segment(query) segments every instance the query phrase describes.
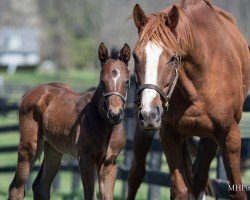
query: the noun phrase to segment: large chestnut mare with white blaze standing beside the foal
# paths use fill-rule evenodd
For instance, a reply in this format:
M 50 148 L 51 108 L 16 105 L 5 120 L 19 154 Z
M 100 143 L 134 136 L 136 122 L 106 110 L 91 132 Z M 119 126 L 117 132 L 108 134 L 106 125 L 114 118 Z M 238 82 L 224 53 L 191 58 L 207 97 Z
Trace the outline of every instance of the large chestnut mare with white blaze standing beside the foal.
M 203 197 L 211 161 L 221 148 L 228 180 L 241 185 L 239 121 L 249 88 L 250 56 L 233 18 L 209 0 L 183 0 L 146 16 L 137 4 L 134 50 L 141 126 L 134 138 L 128 199 L 145 173 L 145 157 L 160 129 L 171 173 L 171 199 Z M 146 136 L 147 135 L 147 136 Z M 194 165 L 188 138 L 201 137 Z M 232 199 L 246 199 L 231 191 Z

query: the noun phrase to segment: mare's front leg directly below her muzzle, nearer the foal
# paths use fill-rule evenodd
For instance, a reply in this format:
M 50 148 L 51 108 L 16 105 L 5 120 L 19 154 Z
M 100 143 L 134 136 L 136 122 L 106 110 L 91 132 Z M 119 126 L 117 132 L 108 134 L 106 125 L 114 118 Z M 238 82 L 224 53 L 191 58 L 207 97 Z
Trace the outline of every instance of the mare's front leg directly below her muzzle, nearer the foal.
M 184 182 L 182 143 L 183 138 L 172 127 L 165 126 L 160 133 L 160 141 L 171 173 L 171 199 L 188 199 L 188 188 Z

